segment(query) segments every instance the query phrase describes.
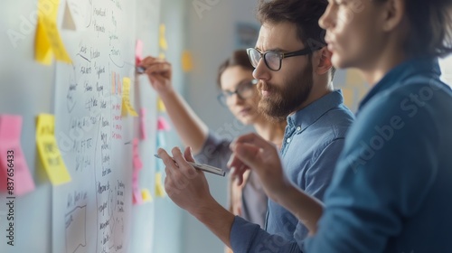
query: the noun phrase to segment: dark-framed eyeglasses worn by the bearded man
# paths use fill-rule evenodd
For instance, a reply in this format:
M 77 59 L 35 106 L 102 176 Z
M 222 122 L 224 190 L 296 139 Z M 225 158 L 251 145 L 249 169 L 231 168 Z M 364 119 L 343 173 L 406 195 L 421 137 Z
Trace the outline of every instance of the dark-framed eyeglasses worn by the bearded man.
M 265 65 L 267 65 L 269 70 L 278 71 L 281 70 L 281 61 L 284 58 L 298 56 L 298 55 L 306 55 L 311 52 L 310 47 L 306 49 L 302 49 L 296 52 L 278 52 L 278 51 L 268 51 L 268 52 L 260 52 L 255 48 L 247 49 L 248 57 L 250 58 L 251 65 L 254 68 L 258 67 L 260 59 L 264 58 Z

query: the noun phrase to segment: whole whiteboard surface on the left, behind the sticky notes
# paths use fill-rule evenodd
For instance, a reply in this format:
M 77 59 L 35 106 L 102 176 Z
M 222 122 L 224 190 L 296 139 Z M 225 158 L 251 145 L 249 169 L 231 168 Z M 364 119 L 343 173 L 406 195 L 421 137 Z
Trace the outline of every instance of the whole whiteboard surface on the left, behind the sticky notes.
M 75 1 L 83 24 L 75 30 L 67 25 L 68 3 L 61 0 L 58 26 L 72 64 L 52 66 L 33 59 L 37 0 L 5 0 L 0 9 L 0 30 L 23 34 L 18 41 L 0 34 L 0 114 L 24 118 L 21 145 L 36 185 L 17 197 L 15 245 L 1 236 L 0 252 L 150 252 L 154 204 L 134 206 L 131 193 L 131 141 L 139 137 L 139 119 L 120 117 L 120 84 L 128 77 L 134 108 L 146 108 L 148 135 L 139 150 L 154 154 L 155 93 L 145 77 L 135 76 L 134 62 L 137 39 L 144 55 L 158 53 L 160 1 Z M 71 183 L 52 186 L 38 166 L 35 118 L 41 113 L 55 115 Z M 154 193 L 155 159 L 141 158 L 139 184 Z

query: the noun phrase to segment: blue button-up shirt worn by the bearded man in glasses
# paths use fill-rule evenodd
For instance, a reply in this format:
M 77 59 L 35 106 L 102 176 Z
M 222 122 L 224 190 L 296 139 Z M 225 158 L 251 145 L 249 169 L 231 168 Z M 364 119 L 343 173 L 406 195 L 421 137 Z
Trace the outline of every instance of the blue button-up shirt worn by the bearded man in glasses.
M 287 117 L 281 155 L 290 181 L 322 200 L 352 122 L 353 114 L 344 107 L 339 90 Z M 272 248 L 298 248 L 297 242 L 301 243 L 306 235 L 306 227 L 294 215 L 269 201 L 267 231 L 236 217 L 231 230 L 231 247 L 236 253 L 277 252 L 271 251 Z

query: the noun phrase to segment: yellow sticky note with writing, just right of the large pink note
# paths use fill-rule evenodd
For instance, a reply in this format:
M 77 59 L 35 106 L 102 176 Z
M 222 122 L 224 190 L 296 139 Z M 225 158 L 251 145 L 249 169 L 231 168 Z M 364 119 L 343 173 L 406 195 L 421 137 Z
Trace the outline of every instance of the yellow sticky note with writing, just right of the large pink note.
M 39 115 L 36 123 L 36 145 L 45 172 L 53 185 L 71 182 L 71 175 L 62 160 L 60 149 L 54 135 L 55 117 Z

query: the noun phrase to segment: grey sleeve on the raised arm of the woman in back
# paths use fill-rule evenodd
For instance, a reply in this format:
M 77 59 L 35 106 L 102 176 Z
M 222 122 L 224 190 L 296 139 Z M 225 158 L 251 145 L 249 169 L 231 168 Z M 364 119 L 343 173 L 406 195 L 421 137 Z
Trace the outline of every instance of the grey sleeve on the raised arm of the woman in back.
M 209 164 L 229 172 L 226 164 L 231 157 L 230 144 L 230 140 L 221 139 L 209 132 L 201 151 L 194 155 L 194 159 L 200 164 Z

